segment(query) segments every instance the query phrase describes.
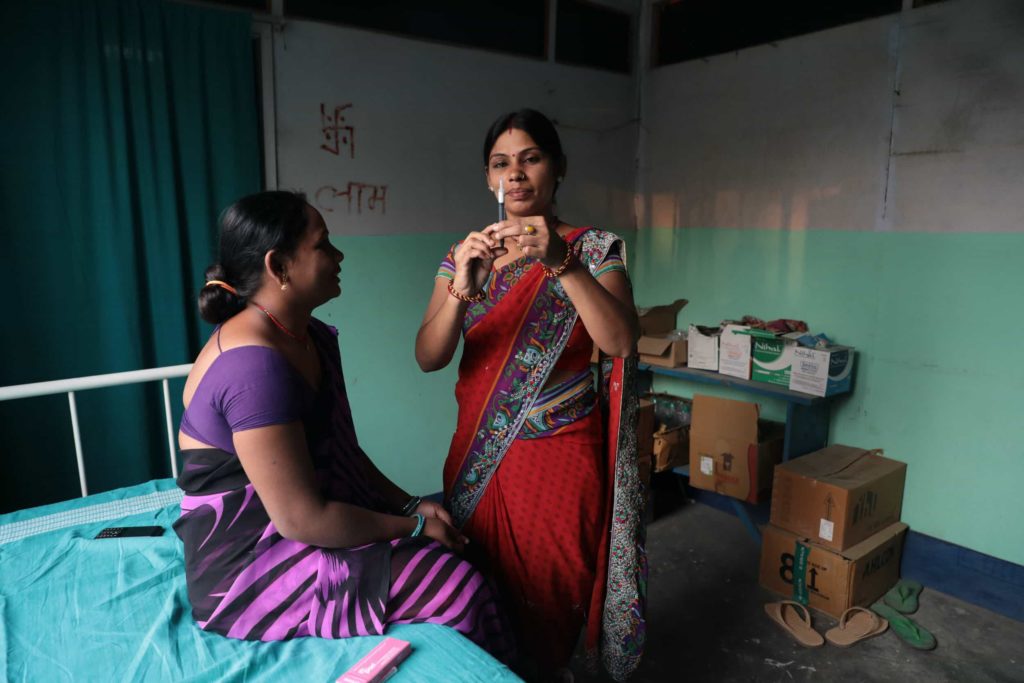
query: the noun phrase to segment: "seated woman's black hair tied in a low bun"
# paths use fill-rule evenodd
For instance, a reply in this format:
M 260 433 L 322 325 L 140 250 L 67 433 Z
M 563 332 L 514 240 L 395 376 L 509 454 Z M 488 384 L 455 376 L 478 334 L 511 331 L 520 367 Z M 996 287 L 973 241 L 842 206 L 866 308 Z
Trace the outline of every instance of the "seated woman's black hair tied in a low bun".
M 257 193 L 224 209 L 220 215 L 220 256 L 206 269 L 206 281 L 219 280 L 234 288 L 206 285 L 199 293 L 200 315 L 219 325 L 243 308 L 263 278 L 268 251 L 289 257 L 307 227 L 306 198 L 301 193 Z

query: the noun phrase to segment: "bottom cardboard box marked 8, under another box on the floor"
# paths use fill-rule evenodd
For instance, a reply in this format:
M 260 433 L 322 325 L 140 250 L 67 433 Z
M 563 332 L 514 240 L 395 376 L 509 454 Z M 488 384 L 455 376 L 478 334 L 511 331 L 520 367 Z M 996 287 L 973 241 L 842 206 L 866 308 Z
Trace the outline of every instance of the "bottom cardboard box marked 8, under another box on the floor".
M 854 605 L 871 604 L 896 583 L 906 529 L 896 522 L 835 552 L 768 524 L 761 539 L 760 583 L 839 618 Z

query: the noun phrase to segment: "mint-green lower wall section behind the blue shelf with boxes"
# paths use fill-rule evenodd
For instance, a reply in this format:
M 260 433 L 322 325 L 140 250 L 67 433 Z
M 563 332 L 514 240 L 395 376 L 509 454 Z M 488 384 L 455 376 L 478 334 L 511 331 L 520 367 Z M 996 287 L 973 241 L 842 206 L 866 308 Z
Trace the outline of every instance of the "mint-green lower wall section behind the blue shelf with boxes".
M 855 346 L 830 440 L 907 463 L 911 528 L 1024 564 L 1022 254 L 1020 233 L 666 228 L 637 233 L 631 270 L 638 304 L 690 300 L 680 326 L 797 317 Z

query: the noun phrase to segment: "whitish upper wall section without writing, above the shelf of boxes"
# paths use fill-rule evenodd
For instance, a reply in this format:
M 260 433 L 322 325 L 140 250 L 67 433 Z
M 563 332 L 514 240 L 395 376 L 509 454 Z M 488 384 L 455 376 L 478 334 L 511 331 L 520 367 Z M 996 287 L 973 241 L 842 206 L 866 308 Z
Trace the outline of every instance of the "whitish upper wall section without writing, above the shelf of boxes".
M 640 225 L 1021 229 L 1020 0 L 665 67 L 643 91 Z

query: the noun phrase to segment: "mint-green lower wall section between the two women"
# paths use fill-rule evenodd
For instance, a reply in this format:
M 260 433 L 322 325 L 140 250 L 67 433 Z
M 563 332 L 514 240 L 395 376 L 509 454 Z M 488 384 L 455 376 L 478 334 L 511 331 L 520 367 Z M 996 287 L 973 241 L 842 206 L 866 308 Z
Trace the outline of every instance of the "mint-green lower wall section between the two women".
M 359 443 L 413 494 L 441 489 L 441 465 L 455 431 L 461 349 L 447 368 L 426 374 L 416 365 L 414 347 L 437 265 L 463 237 L 335 236 L 345 254 L 341 297 L 315 312 L 338 328 Z

